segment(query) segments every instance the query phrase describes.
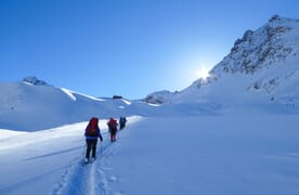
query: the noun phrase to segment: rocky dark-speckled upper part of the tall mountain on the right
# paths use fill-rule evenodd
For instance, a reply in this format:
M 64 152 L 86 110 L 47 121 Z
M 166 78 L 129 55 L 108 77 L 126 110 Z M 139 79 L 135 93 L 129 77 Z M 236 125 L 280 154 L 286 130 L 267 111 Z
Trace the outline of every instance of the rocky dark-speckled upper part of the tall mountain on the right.
M 269 23 L 257 30 L 246 30 L 234 42 L 231 53 L 213 69 L 212 74 L 253 74 L 258 69 L 277 65 L 290 55 L 297 55 L 296 36 L 299 21 L 274 15 Z

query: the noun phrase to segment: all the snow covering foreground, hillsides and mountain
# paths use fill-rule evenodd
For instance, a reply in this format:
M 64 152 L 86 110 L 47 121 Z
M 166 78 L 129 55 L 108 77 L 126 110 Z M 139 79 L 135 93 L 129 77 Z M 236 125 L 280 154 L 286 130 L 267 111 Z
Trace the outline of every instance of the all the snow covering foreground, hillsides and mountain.
M 274 41 L 286 50 L 244 73 L 237 47 L 266 51 L 268 26 L 287 29 Z M 273 17 L 205 82 L 144 101 L 93 98 L 36 77 L 0 83 L 0 194 L 299 194 L 298 29 L 298 21 Z M 104 141 L 84 165 L 93 116 Z M 110 143 L 106 122 L 120 116 L 127 127 Z

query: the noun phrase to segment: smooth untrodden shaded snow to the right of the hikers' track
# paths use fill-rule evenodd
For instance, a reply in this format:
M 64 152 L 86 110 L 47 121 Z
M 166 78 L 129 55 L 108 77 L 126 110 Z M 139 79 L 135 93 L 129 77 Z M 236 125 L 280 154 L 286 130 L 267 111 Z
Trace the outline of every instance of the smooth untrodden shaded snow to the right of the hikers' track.
M 113 192 L 299 192 L 297 116 L 148 118 L 136 126 L 110 159 Z

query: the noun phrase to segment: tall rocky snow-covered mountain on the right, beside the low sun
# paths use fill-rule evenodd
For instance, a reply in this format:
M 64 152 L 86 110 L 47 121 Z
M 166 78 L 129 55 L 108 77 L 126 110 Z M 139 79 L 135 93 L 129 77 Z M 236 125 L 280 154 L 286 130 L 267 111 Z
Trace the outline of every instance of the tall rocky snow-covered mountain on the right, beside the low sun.
M 231 53 L 179 93 L 154 93 L 156 103 L 246 101 L 299 103 L 299 20 L 274 15 L 257 30 L 246 30 Z M 151 99 L 148 99 L 151 98 Z

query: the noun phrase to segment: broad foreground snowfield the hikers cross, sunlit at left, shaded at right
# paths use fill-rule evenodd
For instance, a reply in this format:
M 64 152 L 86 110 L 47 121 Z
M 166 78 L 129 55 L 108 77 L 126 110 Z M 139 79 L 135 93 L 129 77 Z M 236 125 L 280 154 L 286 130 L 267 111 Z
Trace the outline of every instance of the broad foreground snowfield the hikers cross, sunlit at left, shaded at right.
M 0 194 L 299 194 L 299 117 L 264 112 L 128 118 L 82 165 L 86 122 L 1 130 Z

